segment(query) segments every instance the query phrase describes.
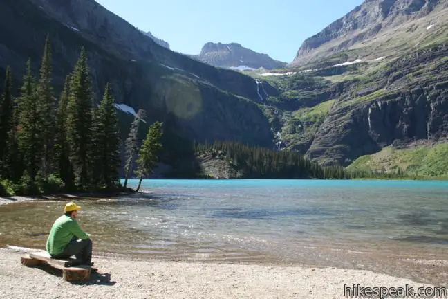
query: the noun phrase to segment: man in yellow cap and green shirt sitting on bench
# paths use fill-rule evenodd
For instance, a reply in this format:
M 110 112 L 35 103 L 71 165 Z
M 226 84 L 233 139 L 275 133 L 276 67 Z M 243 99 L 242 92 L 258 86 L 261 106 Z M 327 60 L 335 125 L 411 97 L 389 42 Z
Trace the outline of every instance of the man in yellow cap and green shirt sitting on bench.
M 91 235 L 85 233 L 77 221 L 81 210 L 76 203 L 67 203 L 65 214 L 57 218 L 46 242 L 46 251 L 55 259 L 68 259 L 75 255 L 80 264 L 93 266 Z

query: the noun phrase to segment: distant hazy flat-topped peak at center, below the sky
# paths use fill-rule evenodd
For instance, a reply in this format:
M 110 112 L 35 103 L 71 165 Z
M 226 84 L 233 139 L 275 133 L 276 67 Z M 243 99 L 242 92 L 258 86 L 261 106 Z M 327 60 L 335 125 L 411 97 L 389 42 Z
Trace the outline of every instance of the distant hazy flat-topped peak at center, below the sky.
M 199 55 L 192 55 L 197 60 L 212 66 L 239 69 L 278 69 L 286 65 L 284 62 L 273 60 L 267 54 L 256 53 L 241 44 L 205 44 Z

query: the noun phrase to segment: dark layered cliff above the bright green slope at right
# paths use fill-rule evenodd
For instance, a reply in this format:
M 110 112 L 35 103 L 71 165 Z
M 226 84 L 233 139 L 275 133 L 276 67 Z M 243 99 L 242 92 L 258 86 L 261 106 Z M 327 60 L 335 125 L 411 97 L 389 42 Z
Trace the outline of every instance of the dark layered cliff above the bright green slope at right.
M 307 151 L 348 165 L 382 147 L 448 138 L 448 45 L 422 49 L 347 82 Z

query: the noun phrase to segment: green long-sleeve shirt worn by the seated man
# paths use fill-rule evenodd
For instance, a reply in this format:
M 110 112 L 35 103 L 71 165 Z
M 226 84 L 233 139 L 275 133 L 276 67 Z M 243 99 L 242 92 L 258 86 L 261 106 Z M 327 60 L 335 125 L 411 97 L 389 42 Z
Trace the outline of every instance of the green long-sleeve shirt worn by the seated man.
M 50 255 L 57 255 L 64 251 L 68 242 L 77 237 L 78 239 L 88 239 L 89 234 L 84 233 L 84 230 L 80 227 L 80 224 L 76 219 L 62 215 L 57 218 L 53 227 L 50 230 L 46 243 L 46 251 Z

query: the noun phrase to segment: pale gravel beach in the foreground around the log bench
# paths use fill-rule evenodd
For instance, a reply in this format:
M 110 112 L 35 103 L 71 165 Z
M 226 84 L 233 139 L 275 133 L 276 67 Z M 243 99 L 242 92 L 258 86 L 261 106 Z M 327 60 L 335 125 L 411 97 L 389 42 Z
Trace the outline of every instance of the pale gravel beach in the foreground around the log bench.
M 97 256 L 99 273 L 71 283 L 49 266 L 22 266 L 21 254 L 0 248 L 0 298 L 344 298 L 344 284 L 429 287 L 369 271 Z

